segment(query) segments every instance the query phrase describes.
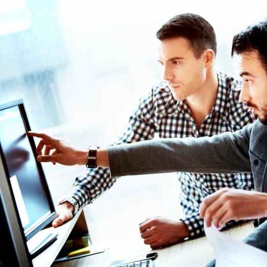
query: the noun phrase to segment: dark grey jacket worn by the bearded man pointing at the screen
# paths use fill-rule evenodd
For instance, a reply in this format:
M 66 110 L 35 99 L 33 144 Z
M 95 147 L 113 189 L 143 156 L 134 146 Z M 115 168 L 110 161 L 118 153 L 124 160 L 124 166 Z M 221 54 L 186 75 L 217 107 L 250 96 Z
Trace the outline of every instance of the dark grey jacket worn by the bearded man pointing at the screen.
M 185 171 L 253 173 L 255 189 L 267 192 L 267 126 L 258 120 L 213 137 L 167 138 L 107 149 L 113 177 Z

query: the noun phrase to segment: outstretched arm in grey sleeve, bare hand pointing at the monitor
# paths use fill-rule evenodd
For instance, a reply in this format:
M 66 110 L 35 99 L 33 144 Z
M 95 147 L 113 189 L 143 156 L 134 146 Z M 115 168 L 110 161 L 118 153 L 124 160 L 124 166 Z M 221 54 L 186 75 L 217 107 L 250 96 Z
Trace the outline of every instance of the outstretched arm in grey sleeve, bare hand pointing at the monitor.
M 100 148 L 97 150 L 97 165 L 110 168 L 113 177 L 177 171 L 249 172 L 252 127 L 253 124 L 234 133 L 225 132 L 213 137 L 167 138 Z M 87 163 L 87 150 L 44 133 L 29 132 L 29 135 L 41 138 L 36 148 L 38 161 L 64 165 Z

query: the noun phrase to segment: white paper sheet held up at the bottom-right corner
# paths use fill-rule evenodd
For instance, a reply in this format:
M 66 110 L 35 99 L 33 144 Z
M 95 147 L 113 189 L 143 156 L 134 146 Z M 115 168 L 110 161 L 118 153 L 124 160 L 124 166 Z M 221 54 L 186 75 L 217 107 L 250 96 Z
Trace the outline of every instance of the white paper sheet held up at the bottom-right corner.
M 215 253 L 216 267 L 267 266 L 267 252 L 229 238 L 218 231 L 214 225 L 206 227 L 205 222 L 204 230 Z

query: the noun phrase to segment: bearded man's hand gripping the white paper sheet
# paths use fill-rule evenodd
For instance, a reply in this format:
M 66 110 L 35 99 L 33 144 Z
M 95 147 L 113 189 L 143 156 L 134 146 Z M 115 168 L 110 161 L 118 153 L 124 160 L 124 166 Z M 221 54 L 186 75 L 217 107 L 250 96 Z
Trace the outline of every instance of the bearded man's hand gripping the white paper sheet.
M 231 220 L 256 219 L 267 216 L 267 194 L 234 188 L 222 188 L 204 198 L 200 218 L 207 227 L 211 222 L 222 228 Z

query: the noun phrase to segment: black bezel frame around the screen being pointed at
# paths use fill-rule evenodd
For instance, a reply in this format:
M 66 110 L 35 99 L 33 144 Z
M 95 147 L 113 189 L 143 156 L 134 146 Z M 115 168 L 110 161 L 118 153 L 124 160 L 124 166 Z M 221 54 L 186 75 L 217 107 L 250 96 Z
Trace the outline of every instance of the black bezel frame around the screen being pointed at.
M 22 120 L 24 122 L 24 126 L 25 126 L 26 131 L 30 131 L 31 127 L 30 127 L 30 124 L 29 124 L 29 121 L 28 121 L 28 117 L 27 117 L 26 110 L 25 110 L 25 107 L 24 107 L 24 102 L 23 102 L 22 99 L 18 99 L 18 100 L 12 101 L 12 102 L 0 104 L 0 110 L 11 108 L 11 107 L 15 107 L 15 106 L 17 106 L 18 109 L 21 112 Z M 39 231 L 41 231 L 45 226 L 47 226 L 53 219 L 56 218 L 56 211 L 55 211 L 54 203 L 53 203 L 53 200 L 52 200 L 52 197 L 51 197 L 51 194 L 50 194 L 48 183 L 47 183 L 47 180 L 46 180 L 46 177 L 45 177 L 45 174 L 44 174 L 43 167 L 42 167 L 41 163 L 36 160 L 37 152 L 36 152 L 36 146 L 35 146 L 35 143 L 34 143 L 34 139 L 33 139 L 33 137 L 30 137 L 29 135 L 27 135 L 27 137 L 28 137 L 29 143 L 30 143 L 32 151 L 33 151 L 33 155 L 34 155 L 34 158 L 35 158 L 35 162 L 36 162 L 40 177 L 42 178 L 41 182 L 42 182 L 42 184 L 44 186 L 45 194 L 47 196 L 49 207 L 50 207 L 50 211 L 51 211 L 51 214 L 48 215 L 46 218 L 44 218 L 39 224 L 37 224 L 36 226 L 32 227 L 28 232 L 24 232 L 26 240 L 29 240 L 31 237 L 33 237 L 35 234 L 37 234 Z M 4 167 L 6 180 L 8 181 L 9 188 L 11 188 L 11 183 L 9 181 L 10 175 L 9 175 L 9 171 L 8 171 L 8 168 L 7 168 L 6 160 L 5 160 L 5 157 L 4 157 L 4 152 L 3 152 L 3 149 L 2 149 L 2 145 L 1 145 L 1 139 L 0 139 L 0 156 L 1 156 L 3 167 Z M 12 192 L 12 190 L 11 190 L 11 192 Z M 12 193 L 12 198 L 13 198 L 13 201 L 14 201 L 13 193 Z

